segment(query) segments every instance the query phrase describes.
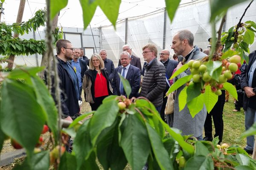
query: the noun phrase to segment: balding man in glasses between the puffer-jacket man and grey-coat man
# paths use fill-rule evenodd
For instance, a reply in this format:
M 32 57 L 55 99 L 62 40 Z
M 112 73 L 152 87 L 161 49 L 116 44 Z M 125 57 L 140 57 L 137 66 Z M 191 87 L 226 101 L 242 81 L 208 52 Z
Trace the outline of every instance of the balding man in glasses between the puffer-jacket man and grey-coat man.
M 178 62 L 169 58 L 170 57 L 169 50 L 164 49 L 161 51 L 161 53 L 159 55 L 160 55 L 160 62 L 162 62 L 164 67 L 166 68 L 166 89 L 163 92 L 163 105 L 162 105 L 162 108 L 160 111 L 160 116 L 163 119 L 163 121 L 165 121 L 164 110 L 166 108 L 166 102 L 167 102 L 167 97 L 165 97 L 165 96 L 171 86 L 169 83 L 169 79 L 172 76 L 173 70 L 177 67 Z

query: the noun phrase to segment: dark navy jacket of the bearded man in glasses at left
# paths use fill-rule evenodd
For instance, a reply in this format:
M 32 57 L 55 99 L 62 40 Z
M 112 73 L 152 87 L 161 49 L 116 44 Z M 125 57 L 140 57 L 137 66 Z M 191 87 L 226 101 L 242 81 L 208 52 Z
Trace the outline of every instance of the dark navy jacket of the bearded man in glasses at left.
M 72 119 L 75 119 L 78 116 L 78 113 L 80 111 L 78 99 L 76 97 L 76 90 L 72 81 L 72 78 L 67 71 L 66 68 L 64 68 L 64 64 L 69 64 L 68 62 L 64 62 L 61 59 L 57 57 L 58 60 L 58 77 L 60 79 L 60 89 L 61 89 L 61 110 L 62 110 L 62 117 L 65 118 L 67 116 L 70 116 Z M 45 72 L 45 77 L 47 80 L 47 72 Z M 78 79 L 77 79 L 77 84 Z M 79 89 L 79 87 L 78 87 Z M 51 91 L 52 97 L 56 102 L 55 97 L 55 86 L 54 86 L 54 78 L 52 77 L 52 91 Z

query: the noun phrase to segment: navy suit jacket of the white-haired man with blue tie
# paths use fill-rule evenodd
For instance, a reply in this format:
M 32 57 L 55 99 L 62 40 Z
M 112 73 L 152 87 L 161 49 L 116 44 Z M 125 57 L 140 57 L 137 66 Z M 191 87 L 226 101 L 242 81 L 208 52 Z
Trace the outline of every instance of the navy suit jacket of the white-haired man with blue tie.
M 121 74 L 121 71 L 122 71 L 122 65 L 115 68 L 113 82 L 112 82 L 113 94 L 118 96 L 121 95 L 120 94 L 120 77 L 118 75 L 118 73 Z M 125 79 L 127 79 L 131 85 L 131 94 L 129 98 L 131 99 L 132 97 L 138 97 L 139 89 L 140 89 L 140 69 L 133 65 L 130 65 Z

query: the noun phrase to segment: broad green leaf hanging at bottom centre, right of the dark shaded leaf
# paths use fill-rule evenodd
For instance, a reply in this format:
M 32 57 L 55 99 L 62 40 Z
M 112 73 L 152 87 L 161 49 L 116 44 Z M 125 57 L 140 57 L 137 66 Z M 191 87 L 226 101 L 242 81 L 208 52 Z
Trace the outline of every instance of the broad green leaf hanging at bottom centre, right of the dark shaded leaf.
M 127 125 L 122 134 L 121 147 L 133 170 L 141 170 L 150 152 L 150 142 L 145 125 L 137 114 L 128 115 Z

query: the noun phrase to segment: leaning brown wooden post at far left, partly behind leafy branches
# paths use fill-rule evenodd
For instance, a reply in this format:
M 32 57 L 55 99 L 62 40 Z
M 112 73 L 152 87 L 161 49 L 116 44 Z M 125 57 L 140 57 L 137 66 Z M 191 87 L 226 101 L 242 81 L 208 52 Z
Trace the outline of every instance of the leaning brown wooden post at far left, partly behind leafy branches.
M 24 8 L 25 8 L 25 3 L 26 3 L 26 0 L 20 0 L 20 7 L 19 7 L 18 14 L 17 14 L 16 23 L 21 23 L 22 22 L 22 17 L 23 17 L 23 11 L 24 11 Z M 17 37 L 19 37 L 19 34 L 14 34 L 13 37 L 17 38 Z M 10 57 L 9 57 L 9 62 L 8 62 L 7 67 L 10 70 L 13 67 L 14 58 L 15 58 L 15 55 L 13 55 L 13 54 L 11 54 Z

